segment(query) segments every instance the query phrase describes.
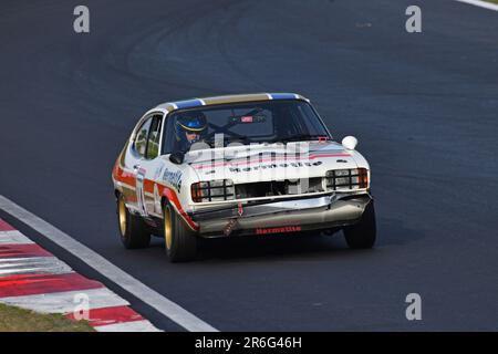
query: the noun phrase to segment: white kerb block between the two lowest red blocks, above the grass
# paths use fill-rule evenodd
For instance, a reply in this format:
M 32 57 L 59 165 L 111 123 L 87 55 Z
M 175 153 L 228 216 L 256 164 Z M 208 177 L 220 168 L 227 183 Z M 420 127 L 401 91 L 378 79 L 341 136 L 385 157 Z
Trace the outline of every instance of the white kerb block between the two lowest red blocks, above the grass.
M 89 310 L 129 305 L 126 300 L 116 295 L 107 288 L 0 298 L 0 302 L 42 313 L 72 313 L 76 306 L 74 300 L 77 294 L 89 296 Z

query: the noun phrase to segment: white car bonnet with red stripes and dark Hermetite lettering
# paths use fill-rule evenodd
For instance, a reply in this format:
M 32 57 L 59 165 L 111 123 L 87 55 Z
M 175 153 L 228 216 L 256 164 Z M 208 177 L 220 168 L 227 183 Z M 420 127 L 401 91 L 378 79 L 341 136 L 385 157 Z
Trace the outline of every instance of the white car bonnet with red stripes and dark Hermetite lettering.
M 354 150 L 335 142 L 258 144 L 189 152 L 187 163 L 200 181 L 235 184 L 323 177 L 330 169 L 356 168 Z

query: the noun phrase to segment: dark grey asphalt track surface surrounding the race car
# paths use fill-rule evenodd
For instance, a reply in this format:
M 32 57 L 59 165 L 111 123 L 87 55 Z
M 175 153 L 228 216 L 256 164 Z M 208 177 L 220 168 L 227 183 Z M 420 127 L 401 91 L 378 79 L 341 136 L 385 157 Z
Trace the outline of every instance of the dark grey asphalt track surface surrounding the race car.
M 76 34 L 76 4 L 0 3 L 1 195 L 221 331 L 498 330 L 498 12 L 450 0 L 85 1 L 91 33 Z M 405 31 L 409 4 L 422 33 Z M 232 239 L 170 264 L 160 239 L 122 248 L 111 169 L 141 114 L 246 92 L 301 93 L 334 137 L 359 138 L 374 250 L 351 251 L 341 235 Z M 412 292 L 422 321 L 405 317 Z

